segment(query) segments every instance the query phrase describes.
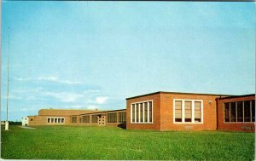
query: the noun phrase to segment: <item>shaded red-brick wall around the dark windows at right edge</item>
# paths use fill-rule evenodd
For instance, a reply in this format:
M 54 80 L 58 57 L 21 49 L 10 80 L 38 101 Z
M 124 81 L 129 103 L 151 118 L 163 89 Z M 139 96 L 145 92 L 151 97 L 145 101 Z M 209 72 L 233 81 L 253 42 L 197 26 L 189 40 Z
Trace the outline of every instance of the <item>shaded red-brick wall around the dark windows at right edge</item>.
M 233 101 L 255 101 L 255 96 L 235 97 L 230 99 L 218 100 L 218 129 L 231 131 L 254 132 L 254 123 L 224 123 L 224 102 Z M 255 108 L 255 106 L 253 106 Z M 247 129 L 250 128 L 250 129 Z

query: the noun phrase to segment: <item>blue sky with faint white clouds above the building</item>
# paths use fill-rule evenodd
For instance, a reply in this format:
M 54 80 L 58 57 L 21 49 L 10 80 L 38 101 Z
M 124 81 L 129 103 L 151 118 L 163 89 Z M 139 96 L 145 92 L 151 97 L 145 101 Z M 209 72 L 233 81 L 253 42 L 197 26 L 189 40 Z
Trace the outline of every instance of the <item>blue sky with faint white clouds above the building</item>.
M 156 91 L 255 93 L 254 3 L 2 3 L 2 120 Z

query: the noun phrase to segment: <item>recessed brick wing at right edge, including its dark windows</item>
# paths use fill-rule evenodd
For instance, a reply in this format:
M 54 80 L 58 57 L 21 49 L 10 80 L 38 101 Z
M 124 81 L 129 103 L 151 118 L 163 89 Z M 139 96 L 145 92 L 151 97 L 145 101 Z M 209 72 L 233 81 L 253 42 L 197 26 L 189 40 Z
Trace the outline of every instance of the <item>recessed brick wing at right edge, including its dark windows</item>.
M 234 131 L 255 130 L 255 95 L 218 98 L 218 129 Z

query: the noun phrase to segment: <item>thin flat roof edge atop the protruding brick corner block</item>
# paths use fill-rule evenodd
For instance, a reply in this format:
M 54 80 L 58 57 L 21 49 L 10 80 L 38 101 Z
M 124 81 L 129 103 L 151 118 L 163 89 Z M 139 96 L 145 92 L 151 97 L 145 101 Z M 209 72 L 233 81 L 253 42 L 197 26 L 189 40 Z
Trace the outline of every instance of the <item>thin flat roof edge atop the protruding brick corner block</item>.
M 216 95 L 216 96 L 233 96 L 233 95 L 219 95 L 219 94 L 199 94 L 199 93 L 184 93 L 184 92 L 165 92 L 165 91 L 158 91 L 146 95 L 137 95 L 133 97 L 126 98 L 126 100 L 147 96 L 147 95 L 156 95 L 156 94 L 176 94 L 176 95 Z

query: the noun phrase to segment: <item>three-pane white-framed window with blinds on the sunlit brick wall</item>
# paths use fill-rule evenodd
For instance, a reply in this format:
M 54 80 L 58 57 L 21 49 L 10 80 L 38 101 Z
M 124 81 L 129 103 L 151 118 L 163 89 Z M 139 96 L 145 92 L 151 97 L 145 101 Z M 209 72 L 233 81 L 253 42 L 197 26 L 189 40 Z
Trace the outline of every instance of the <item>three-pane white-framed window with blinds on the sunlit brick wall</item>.
M 174 100 L 174 123 L 202 123 L 202 101 Z

